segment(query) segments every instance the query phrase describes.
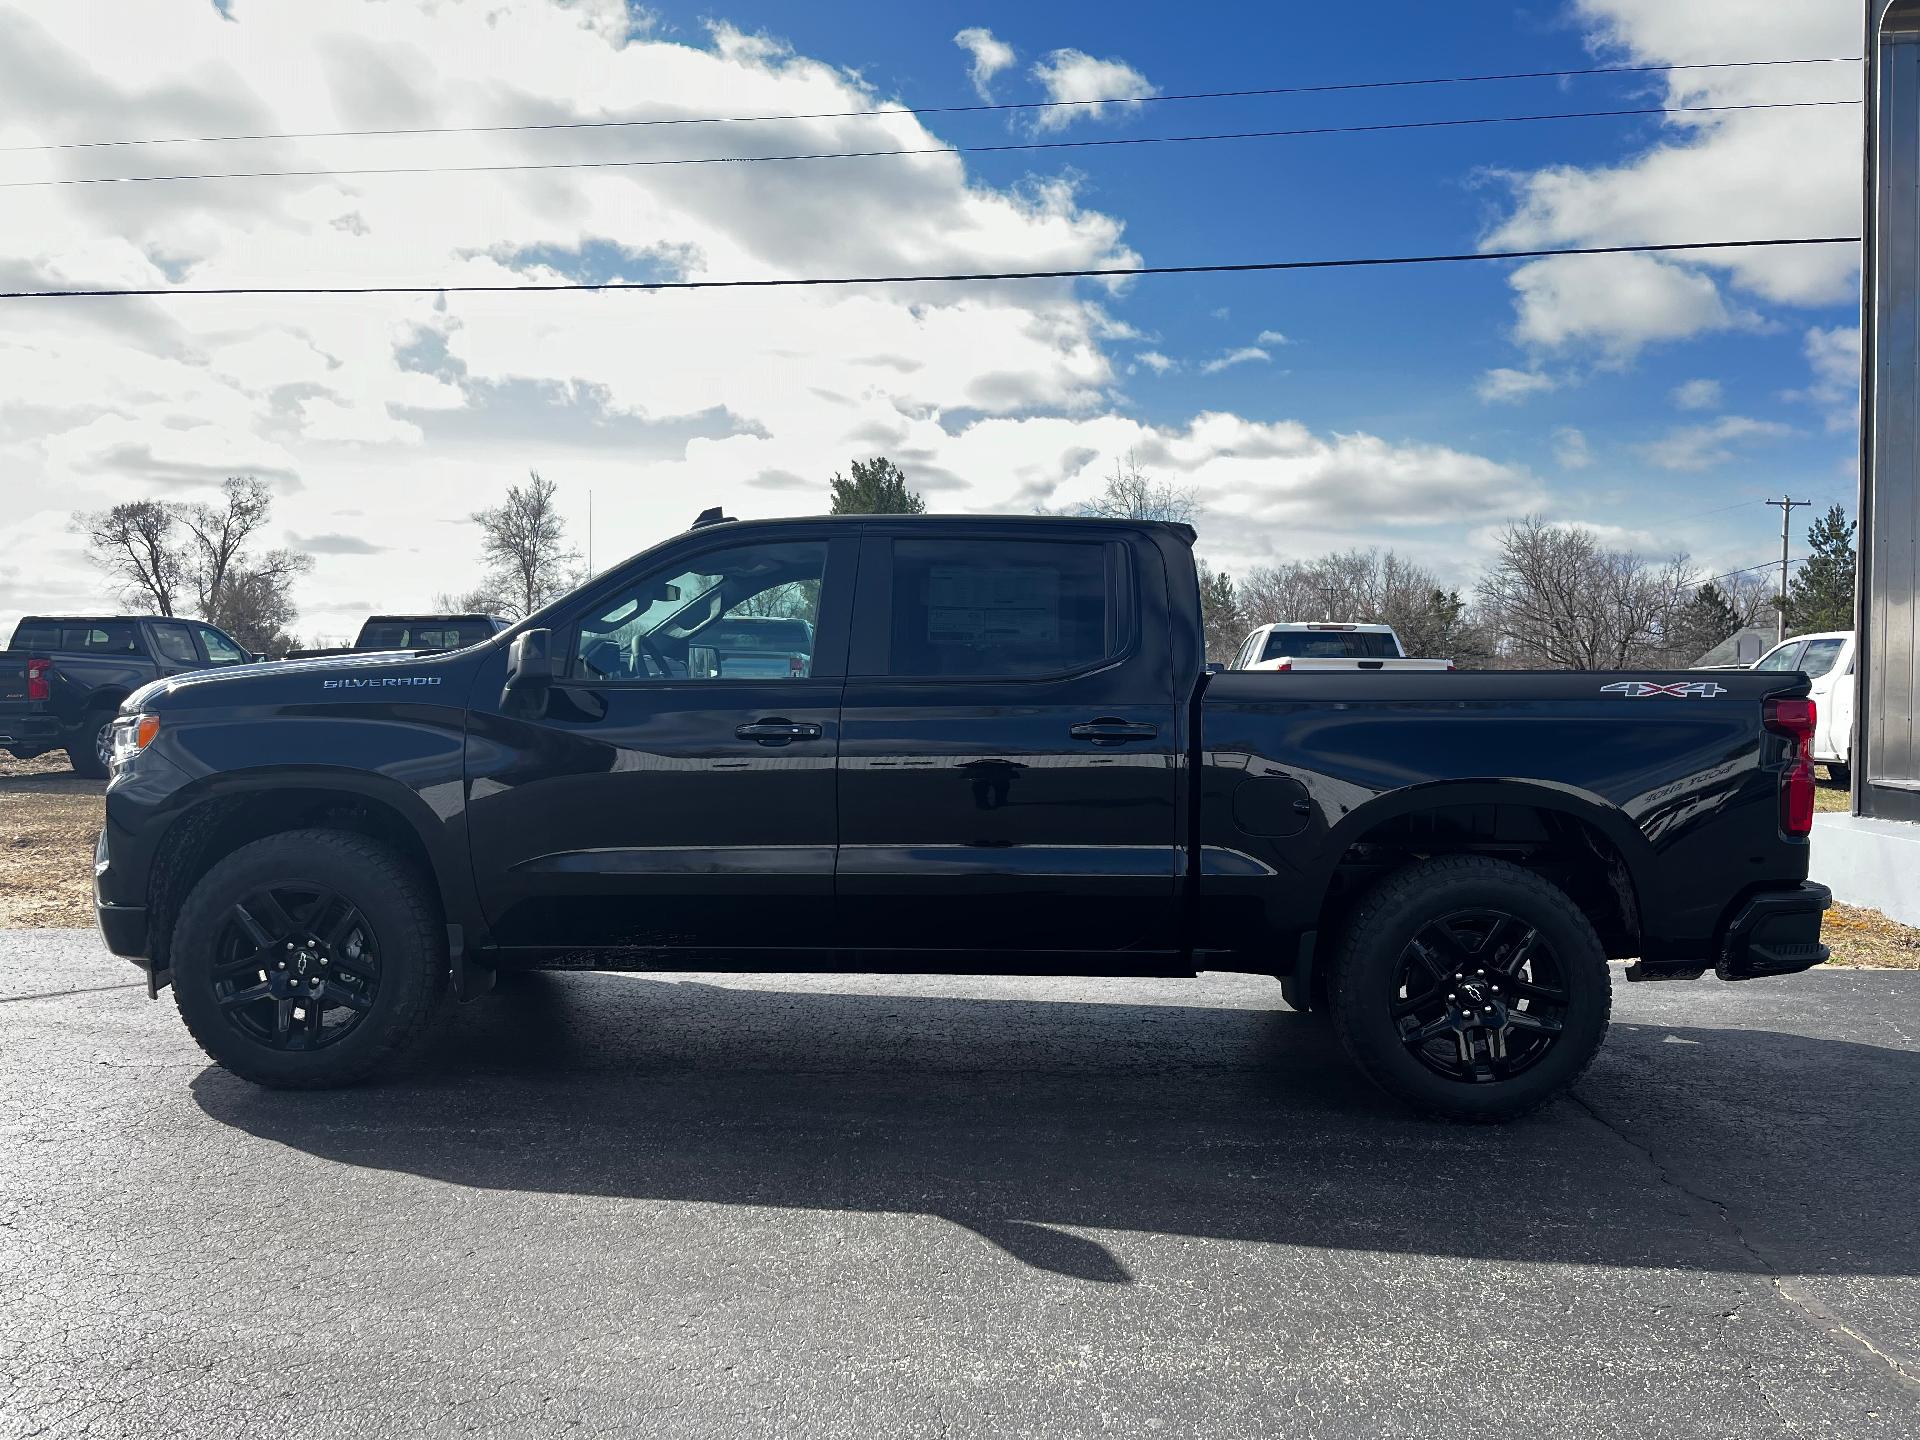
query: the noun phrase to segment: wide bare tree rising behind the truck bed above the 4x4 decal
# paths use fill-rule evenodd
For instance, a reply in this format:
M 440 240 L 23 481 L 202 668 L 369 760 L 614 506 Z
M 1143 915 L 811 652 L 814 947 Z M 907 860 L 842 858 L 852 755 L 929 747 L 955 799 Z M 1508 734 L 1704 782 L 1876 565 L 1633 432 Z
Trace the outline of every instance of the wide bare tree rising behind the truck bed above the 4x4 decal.
M 1588 530 L 1528 516 L 1501 534 L 1478 603 L 1507 664 L 1615 670 L 1668 659 L 1695 589 L 1686 555 L 1651 564 Z

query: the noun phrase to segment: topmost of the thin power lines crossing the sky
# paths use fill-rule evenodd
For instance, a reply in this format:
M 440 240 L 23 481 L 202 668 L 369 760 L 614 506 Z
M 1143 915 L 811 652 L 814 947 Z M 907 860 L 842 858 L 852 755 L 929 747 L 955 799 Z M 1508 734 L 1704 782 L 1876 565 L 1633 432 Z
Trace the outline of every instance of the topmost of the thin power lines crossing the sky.
M 0 146 L 0 154 L 44 152 L 44 150 L 115 150 L 127 146 L 202 146 L 202 144 L 240 144 L 253 140 L 363 140 L 401 134 L 507 134 L 536 131 L 616 131 L 643 129 L 657 125 L 766 125 L 781 121 L 812 119 L 868 119 L 876 115 L 972 115 L 1008 109 L 1069 109 L 1079 106 L 1152 106 L 1179 100 L 1244 100 L 1254 96 L 1284 94 L 1338 94 L 1346 90 L 1404 90 L 1434 84 L 1482 84 L 1488 81 L 1559 81 L 1582 75 L 1670 75 L 1695 69 L 1761 69 L 1778 65 L 1857 65 L 1859 56 L 1818 56 L 1799 60 L 1707 60 L 1690 65 L 1586 65 L 1580 69 L 1528 69 L 1501 75 L 1434 75 L 1405 81 L 1344 81 L 1332 84 L 1267 84 L 1248 90 L 1188 90 L 1185 94 L 1140 94 L 1114 96 L 1108 100 L 1010 100 L 1004 104 L 979 106 L 876 106 L 870 109 L 814 109 L 791 115 L 662 115 L 659 119 L 616 119 L 616 121 L 545 121 L 524 125 L 417 125 L 372 131 L 276 131 L 261 134 L 179 134 L 134 140 L 58 140 L 36 146 Z

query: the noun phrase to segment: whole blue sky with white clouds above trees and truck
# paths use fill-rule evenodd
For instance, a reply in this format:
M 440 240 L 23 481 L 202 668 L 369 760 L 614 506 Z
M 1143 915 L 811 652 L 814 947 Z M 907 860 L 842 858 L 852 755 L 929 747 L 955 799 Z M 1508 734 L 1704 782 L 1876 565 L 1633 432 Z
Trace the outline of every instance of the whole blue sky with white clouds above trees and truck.
M 962 106 L 977 102 L 975 54 L 1002 61 L 981 77 L 987 92 L 1020 102 L 1131 83 L 1165 94 L 1857 46 L 1857 15 L 1830 0 L 1764 12 L 1736 0 L 102 6 L 0 0 L 0 84 L 17 96 L 0 144 Z M 1004 144 L 1857 94 L 1855 65 L 1809 65 L 751 134 L 13 152 L 0 169 L 52 179 L 129 161 L 305 169 Z M 46 284 L 365 284 L 1851 234 L 1857 167 L 1859 111 L 1830 108 L 960 161 L 48 188 L 10 192 L 0 263 Z M 1705 574 L 1776 553 L 1766 495 L 1851 505 L 1855 294 L 1855 257 L 1830 250 L 1112 290 L 13 311 L 0 326 L 12 378 L 0 465 L 23 476 L 36 561 L 31 574 L 0 561 L 0 622 L 102 599 L 73 509 L 192 497 L 223 470 L 275 476 L 288 543 L 353 534 L 371 545 L 309 582 L 303 607 L 321 634 L 351 632 L 357 611 L 459 589 L 465 515 L 530 467 L 561 480 L 576 528 L 595 493 L 603 557 L 684 524 L 687 495 L 747 515 L 810 509 L 824 476 L 860 453 L 900 459 L 941 509 L 1031 509 L 1085 497 L 1135 449 L 1198 492 L 1202 551 L 1233 568 L 1392 545 L 1471 584 L 1498 526 L 1534 511 L 1647 553 L 1686 549 Z M 401 534 L 371 534 L 376 518 Z

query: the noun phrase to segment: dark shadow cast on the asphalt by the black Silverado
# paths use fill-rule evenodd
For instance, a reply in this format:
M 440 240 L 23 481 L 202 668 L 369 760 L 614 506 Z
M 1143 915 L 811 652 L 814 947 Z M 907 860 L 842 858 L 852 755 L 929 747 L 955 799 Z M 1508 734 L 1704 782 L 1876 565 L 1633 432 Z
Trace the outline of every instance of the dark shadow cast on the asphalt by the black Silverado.
M 1044 985 L 1037 981 L 1037 985 Z M 1615 1025 L 1576 1098 L 1423 1121 L 1284 1010 L 516 975 L 355 1091 L 194 1081 L 223 1125 L 484 1190 L 945 1217 L 1127 1283 L 1087 1231 L 1920 1275 L 1920 1054 Z M 636 1244 L 641 1236 L 636 1236 Z

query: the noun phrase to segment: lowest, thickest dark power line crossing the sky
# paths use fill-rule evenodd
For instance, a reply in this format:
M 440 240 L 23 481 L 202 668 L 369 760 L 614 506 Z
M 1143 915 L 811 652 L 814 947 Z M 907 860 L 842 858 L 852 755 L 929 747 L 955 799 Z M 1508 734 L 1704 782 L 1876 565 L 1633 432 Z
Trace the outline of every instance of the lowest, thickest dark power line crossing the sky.
M 1096 280 L 1135 275 L 1252 275 L 1260 271 L 1346 271 L 1388 265 L 1455 265 L 1482 259 L 1548 259 L 1553 255 L 1649 255 L 1678 250 L 1761 250 L 1776 246 L 1857 246 L 1857 234 L 1791 240 L 1692 240 L 1659 246 L 1563 246 L 1555 250 L 1471 250 L 1455 255 L 1365 255 L 1344 259 L 1263 259 L 1235 265 L 1104 265 L 1071 271 L 964 271 L 958 275 L 839 275 L 768 280 L 522 280 L 515 284 L 294 284 L 294 286 L 173 286 L 113 290 L 4 290 L 0 300 L 127 300 L 154 296 L 472 296 L 547 290 L 801 290 L 852 284 L 945 284 L 962 280 Z

